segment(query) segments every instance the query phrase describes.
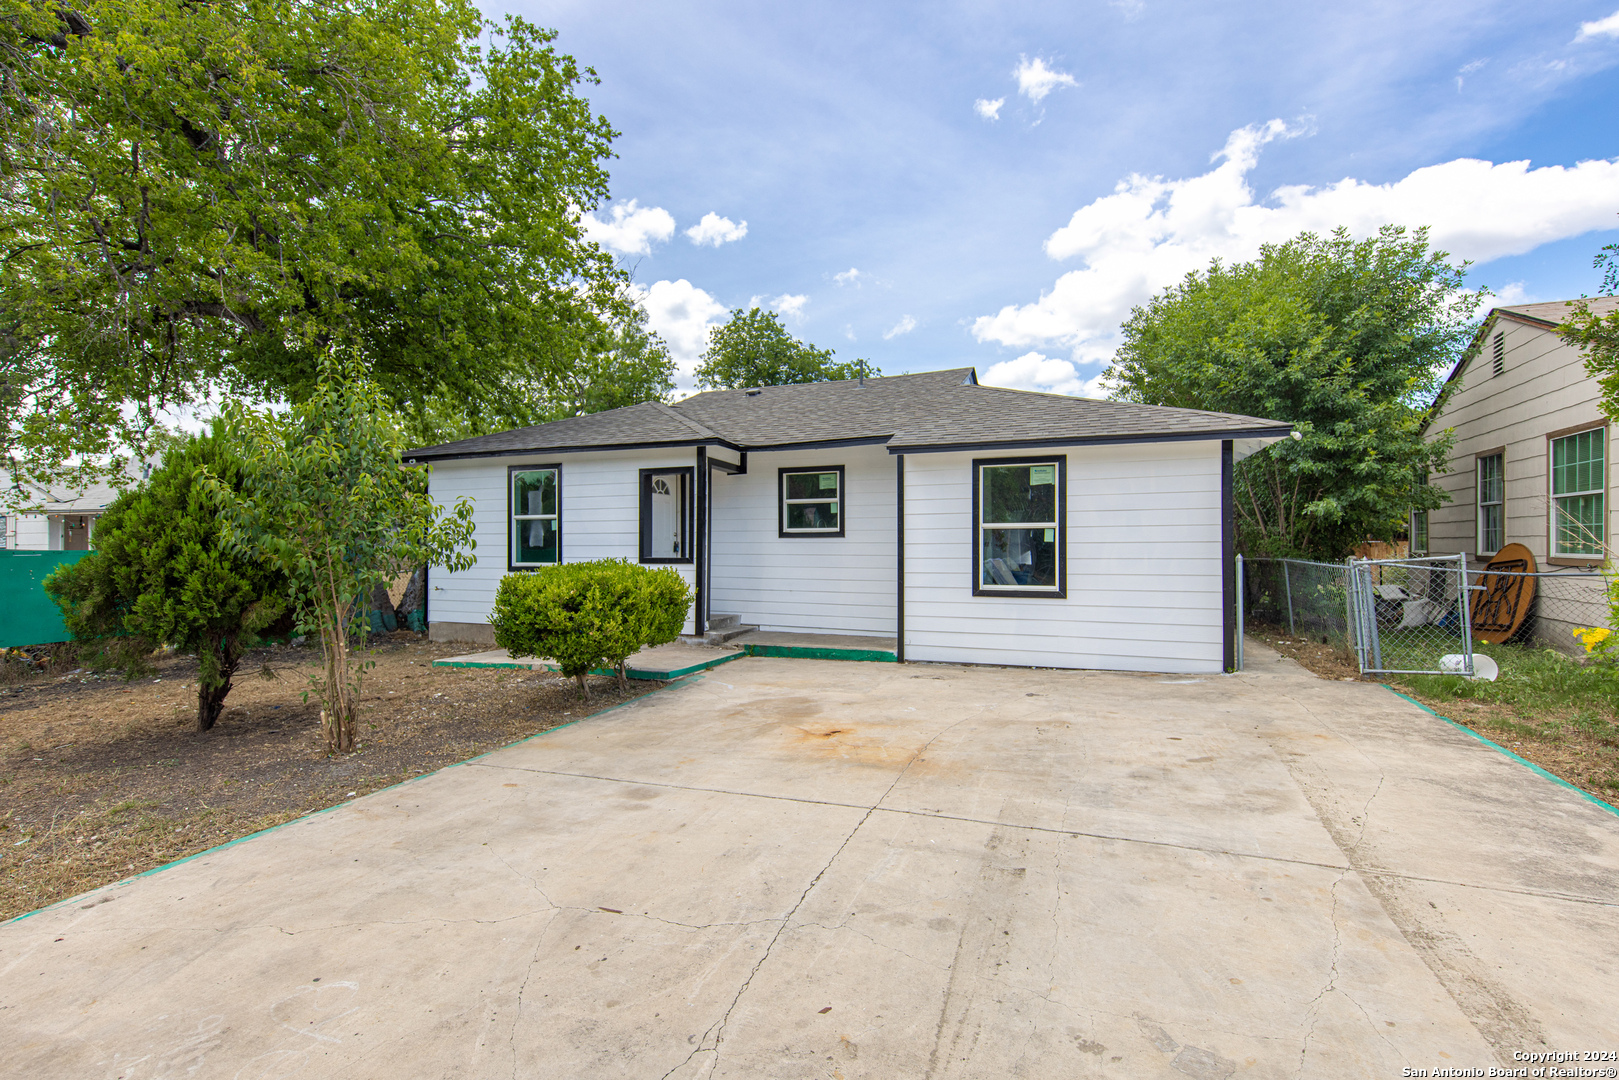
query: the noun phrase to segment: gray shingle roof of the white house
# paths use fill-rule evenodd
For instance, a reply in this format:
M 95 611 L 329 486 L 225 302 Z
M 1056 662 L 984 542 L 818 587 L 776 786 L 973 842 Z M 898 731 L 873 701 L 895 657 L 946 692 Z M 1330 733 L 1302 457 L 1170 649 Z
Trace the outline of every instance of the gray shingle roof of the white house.
M 531 450 L 724 444 L 763 450 L 881 442 L 890 452 L 1067 442 L 1284 436 L 1289 426 L 1234 413 L 1094 402 L 978 384 L 971 368 L 758 390 L 711 390 L 675 405 L 631 405 L 442 447 L 434 460 Z

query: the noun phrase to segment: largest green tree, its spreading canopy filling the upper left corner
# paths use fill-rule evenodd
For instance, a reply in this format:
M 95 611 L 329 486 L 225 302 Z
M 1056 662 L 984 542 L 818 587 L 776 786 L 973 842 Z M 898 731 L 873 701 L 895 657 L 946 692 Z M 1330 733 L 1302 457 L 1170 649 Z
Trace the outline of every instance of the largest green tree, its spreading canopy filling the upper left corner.
M 300 400 L 330 347 L 406 413 L 567 397 L 628 298 L 581 233 L 615 133 L 552 40 L 471 0 L 0 0 L 0 465 Z

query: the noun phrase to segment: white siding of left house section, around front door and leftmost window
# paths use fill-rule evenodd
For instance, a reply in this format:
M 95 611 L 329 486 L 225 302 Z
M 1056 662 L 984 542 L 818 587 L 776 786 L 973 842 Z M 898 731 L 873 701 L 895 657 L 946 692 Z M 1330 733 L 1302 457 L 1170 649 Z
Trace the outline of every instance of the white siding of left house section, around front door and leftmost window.
M 609 450 L 599 453 L 541 453 L 531 458 L 476 458 L 444 461 L 432 470 L 431 491 L 439 505 L 473 500 L 473 552 L 476 565 L 460 573 L 436 567 L 429 575 L 432 622 L 489 622 L 495 589 L 507 575 L 508 518 L 507 470 L 523 465 L 562 465 L 562 560 L 640 557 L 643 468 L 693 466 L 696 452 Z M 675 567 L 688 583 L 690 565 Z M 685 631 L 691 633 L 691 617 Z

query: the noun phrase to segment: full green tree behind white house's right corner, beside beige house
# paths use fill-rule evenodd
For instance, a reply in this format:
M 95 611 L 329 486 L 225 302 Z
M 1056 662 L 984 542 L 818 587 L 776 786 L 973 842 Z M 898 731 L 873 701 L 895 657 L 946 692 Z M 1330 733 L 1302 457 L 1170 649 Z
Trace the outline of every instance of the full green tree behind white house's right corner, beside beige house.
M 1426 230 L 1305 233 L 1137 308 L 1107 376 L 1124 400 L 1292 423 L 1239 465 L 1242 547 L 1339 559 L 1444 497 L 1412 481 L 1451 452 L 1423 423 L 1475 330 L 1464 275 Z

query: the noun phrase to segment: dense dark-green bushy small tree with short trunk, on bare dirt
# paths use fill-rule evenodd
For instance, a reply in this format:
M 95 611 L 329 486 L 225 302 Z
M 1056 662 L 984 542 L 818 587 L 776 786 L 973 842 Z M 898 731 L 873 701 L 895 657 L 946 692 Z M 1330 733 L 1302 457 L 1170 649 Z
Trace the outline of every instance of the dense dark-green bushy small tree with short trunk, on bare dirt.
M 206 732 L 225 709 L 243 653 L 287 607 L 287 575 L 232 551 L 199 471 L 240 492 L 240 455 L 219 434 L 168 452 L 138 489 L 96 523 L 96 551 L 58 567 L 45 591 L 78 641 L 96 643 L 126 674 L 147 667 L 162 643 L 198 654 L 198 719 Z

